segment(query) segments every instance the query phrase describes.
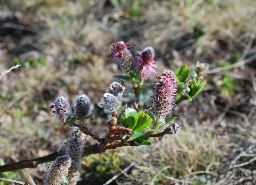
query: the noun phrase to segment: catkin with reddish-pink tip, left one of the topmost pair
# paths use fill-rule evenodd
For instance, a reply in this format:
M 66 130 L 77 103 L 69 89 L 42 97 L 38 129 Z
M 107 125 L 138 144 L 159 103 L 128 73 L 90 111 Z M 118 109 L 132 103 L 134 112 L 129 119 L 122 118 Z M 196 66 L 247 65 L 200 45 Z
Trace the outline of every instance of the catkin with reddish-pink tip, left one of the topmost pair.
M 114 42 L 112 51 L 112 58 L 115 61 L 115 64 L 118 65 L 119 69 L 126 73 L 131 73 L 134 69 L 134 59 L 132 53 L 128 48 L 132 46 L 128 46 L 124 41 Z

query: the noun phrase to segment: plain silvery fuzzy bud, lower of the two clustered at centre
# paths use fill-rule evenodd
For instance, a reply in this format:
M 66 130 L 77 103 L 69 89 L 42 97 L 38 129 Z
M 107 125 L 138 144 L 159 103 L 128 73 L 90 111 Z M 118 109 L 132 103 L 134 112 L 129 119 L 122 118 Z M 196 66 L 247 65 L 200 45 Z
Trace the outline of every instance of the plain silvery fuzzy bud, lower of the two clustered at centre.
M 105 94 L 103 94 L 103 99 L 106 104 L 106 107 L 111 112 L 117 112 L 117 108 L 122 106 L 121 101 L 119 101 L 116 96 L 114 96 L 109 92 L 106 92 Z

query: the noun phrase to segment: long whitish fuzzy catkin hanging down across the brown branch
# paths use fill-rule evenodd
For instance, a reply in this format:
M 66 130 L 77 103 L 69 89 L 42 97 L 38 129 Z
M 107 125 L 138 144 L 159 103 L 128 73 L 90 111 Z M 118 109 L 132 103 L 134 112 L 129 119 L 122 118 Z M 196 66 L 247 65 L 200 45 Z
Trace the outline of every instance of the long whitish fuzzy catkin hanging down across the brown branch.
M 83 134 L 78 127 L 71 127 L 68 133 L 66 144 L 66 154 L 72 158 L 72 165 L 69 169 L 69 184 L 75 185 L 80 180 L 81 163 L 83 159 L 83 148 L 87 135 Z

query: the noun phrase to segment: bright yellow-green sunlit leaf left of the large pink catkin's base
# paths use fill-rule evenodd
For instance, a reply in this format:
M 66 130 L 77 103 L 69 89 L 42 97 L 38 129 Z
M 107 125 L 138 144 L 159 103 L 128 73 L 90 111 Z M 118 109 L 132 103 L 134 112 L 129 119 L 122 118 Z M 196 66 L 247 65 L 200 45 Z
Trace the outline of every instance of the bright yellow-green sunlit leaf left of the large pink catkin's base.
M 148 114 L 146 114 L 145 111 L 141 110 L 138 112 L 136 118 L 135 118 L 135 123 L 134 123 L 134 128 L 132 130 L 137 130 L 137 131 L 142 131 L 145 130 L 147 126 L 149 126 L 152 122 L 152 119 Z

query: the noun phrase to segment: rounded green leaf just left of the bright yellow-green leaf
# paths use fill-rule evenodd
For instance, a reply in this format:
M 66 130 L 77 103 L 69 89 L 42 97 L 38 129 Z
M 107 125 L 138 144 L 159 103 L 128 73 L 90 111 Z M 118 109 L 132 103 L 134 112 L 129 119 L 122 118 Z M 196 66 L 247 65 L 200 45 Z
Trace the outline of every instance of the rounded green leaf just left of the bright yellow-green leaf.
M 120 114 L 120 122 L 124 127 L 130 127 L 133 130 L 137 111 L 130 107 L 126 108 L 125 111 Z

